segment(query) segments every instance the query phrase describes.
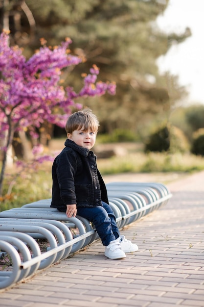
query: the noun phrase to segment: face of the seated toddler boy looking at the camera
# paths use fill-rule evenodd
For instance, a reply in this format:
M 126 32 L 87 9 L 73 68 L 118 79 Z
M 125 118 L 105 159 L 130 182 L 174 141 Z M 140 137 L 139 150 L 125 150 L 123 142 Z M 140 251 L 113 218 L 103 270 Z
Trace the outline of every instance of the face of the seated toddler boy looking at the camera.
M 91 129 L 84 131 L 82 127 L 80 130 L 74 130 L 72 133 L 68 133 L 67 135 L 69 140 L 89 150 L 91 150 L 95 144 L 96 131 L 92 131 Z

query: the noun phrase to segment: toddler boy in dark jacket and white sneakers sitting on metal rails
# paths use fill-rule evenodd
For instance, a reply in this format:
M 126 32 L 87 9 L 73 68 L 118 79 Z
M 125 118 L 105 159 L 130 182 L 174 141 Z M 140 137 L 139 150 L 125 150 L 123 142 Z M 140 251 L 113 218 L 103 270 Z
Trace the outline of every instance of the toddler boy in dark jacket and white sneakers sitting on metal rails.
M 52 166 L 51 207 L 66 212 L 68 217 L 78 214 L 93 223 L 105 246 L 105 256 L 120 259 L 138 247 L 120 235 L 109 205 L 96 155 L 91 151 L 98 127 L 97 117 L 88 108 L 69 116 L 65 148 Z

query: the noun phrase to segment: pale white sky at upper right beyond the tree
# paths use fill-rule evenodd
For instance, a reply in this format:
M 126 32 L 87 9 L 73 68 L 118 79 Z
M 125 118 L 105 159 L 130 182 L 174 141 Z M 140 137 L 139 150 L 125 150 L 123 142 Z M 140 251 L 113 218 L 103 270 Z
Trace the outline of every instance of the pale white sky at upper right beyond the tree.
M 189 92 L 189 103 L 204 103 L 204 0 L 170 0 L 157 24 L 176 33 L 190 27 L 191 37 L 159 57 L 158 65 L 160 72 L 179 76 L 179 84 Z

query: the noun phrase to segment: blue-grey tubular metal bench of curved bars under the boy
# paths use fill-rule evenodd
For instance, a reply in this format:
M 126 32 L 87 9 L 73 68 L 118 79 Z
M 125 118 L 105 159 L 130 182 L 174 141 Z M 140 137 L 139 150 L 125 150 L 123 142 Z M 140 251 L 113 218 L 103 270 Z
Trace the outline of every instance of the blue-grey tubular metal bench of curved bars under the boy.
M 172 197 L 160 183 L 108 183 L 110 205 L 119 229 L 165 205 Z M 0 289 L 30 277 L 97 240 L 86 219 L 68 218 L 50 208 L 51 199 L 0 212 L 0 259 L 10 256 L 11 270 L 0 271 Z M 39 242 L 45 241 L 42 251 Z

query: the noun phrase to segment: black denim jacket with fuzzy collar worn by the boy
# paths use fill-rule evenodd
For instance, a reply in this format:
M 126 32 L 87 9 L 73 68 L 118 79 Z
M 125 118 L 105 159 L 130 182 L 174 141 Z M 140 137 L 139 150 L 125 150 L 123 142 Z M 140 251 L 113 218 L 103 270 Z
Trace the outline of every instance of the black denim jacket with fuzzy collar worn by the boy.
M 102 205 L 101 201 L 109 204 L 95 154 L 69 139 L 65 146 L 52 165 L 51 207 L 64 211 L 71 204 L 77 207 L 94 207 Z

